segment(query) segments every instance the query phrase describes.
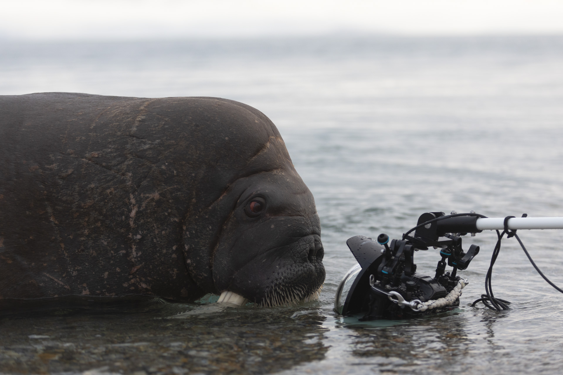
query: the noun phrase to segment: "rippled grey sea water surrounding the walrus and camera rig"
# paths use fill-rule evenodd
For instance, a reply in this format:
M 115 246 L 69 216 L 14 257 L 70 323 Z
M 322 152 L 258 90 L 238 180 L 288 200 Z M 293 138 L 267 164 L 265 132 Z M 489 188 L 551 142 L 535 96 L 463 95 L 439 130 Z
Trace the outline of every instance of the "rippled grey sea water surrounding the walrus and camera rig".
M 512 238 L 495 295 L 495 235 L 461 275 L 460 308 L 360 323 L 332 311 L 355 264 L 347 238 L 398 238 L 427 211 L 563 215 L 563 38 L 393 38 L 33 44 L 2 42 L 0 94 L 219 96 L 269 116 L 315 196 L 327 279 L 291 308 L 148 304 L 0 319 L 4 373 L 558 373 L 563 296 Z M 563 284 L 561 231 L 520 231 Z M 415 262 L 433 274 L 436 251 Z

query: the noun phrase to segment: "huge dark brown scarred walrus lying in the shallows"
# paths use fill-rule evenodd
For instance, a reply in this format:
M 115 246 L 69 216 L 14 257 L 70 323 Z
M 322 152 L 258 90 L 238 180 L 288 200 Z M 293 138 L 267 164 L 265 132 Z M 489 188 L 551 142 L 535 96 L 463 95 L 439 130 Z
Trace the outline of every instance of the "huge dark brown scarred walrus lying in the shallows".
M 0 154 L 0 299 L 319 295 L 314 198 L 251 106 L 0 96 Z

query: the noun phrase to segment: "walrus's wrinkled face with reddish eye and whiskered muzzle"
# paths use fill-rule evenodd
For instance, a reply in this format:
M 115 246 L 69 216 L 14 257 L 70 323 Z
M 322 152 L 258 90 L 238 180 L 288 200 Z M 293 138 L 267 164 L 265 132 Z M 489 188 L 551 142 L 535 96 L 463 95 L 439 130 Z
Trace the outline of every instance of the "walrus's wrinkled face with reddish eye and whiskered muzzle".
M 262 305 L 316 299 L 325 272 L 311 192 L 291 170 L 245 180 L 213 254 L 216 290 Z

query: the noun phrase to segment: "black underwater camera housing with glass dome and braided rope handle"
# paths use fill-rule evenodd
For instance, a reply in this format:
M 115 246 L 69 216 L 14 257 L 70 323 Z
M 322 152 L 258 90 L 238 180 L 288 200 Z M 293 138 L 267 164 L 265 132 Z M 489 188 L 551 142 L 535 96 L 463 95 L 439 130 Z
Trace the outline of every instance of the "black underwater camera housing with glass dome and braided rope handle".
M 479 253 L 475 245 L 464 251 L 461 236 L 481 232 L 476 220 L 483 216 L 443 216 L 441 212 L 422 214 L 414 236 L 409 236 L 409 231 L 402 240 L 389 241 L 386 234 L 380 234 L 377 240 L 349 238 L 346 245 L 358 265 L 339 284 L 334 310 L 342 315 L 363 313 L 360 320 L 374 320 L 409 318 L 458 306 L 467 280 L 461 279 L 457 270 L 466 269 Z M 434 277 L 417 273 L 413 261 L 415 251 L 428 247 L 440 249 Z M 445 272 L 446 262 L 453 267 L 451 272 Z

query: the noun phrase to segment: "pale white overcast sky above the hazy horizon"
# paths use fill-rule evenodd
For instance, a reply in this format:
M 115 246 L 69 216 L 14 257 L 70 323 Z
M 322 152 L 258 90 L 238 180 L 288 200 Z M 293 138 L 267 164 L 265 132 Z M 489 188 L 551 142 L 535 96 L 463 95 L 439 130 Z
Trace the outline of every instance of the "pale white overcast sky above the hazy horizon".
M 563 34 L 558 0 L 0 0 L 0 38 Z

